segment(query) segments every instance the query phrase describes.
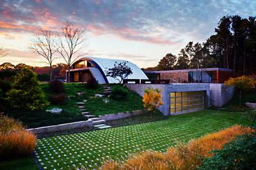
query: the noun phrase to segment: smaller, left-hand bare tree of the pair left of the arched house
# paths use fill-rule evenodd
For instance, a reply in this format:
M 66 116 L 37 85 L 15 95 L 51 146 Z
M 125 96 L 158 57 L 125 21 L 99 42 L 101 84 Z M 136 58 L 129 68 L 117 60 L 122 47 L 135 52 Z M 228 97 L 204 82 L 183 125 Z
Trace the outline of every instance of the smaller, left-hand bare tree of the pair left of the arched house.
M 35 34 L 32 42 L 30 49 L 47 60 L 47 64 L 50 66 L 50 81 L 52 81 L 52 62 L 57 59 L 54 53 L 58 50 L 54 32 L 41 30 Z

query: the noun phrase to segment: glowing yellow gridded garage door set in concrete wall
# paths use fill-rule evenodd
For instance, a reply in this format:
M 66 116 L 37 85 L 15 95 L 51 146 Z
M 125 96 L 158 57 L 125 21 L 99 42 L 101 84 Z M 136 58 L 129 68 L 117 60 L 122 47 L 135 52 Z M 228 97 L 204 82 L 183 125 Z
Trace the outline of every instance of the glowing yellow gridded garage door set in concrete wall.
M 204 108 L 204 91 L 172 92 L 170 113 L 184 113 Z

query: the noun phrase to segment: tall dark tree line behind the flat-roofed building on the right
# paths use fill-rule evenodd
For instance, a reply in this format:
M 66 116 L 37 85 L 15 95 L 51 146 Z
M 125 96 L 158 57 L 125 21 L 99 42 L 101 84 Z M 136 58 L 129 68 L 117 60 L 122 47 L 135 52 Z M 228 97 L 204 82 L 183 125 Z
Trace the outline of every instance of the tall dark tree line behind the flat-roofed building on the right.
M 234 77 L 256 72 L 256 18 L 224 16 L 215 34 L 204 43 L 190 41 L 178 56 L 167 53 L 156 67 L 146 70 L 233 69 Z

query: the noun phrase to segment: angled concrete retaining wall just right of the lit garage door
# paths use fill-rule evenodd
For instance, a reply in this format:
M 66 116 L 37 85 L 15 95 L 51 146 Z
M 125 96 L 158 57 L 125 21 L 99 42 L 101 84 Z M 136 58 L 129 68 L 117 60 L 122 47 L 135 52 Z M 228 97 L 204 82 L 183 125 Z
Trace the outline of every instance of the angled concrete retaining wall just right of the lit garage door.
M 220 84 L 210 84 L 211 105 L 221 108 L 227 104 L 234 96 L 235 89 L 232 86 Z

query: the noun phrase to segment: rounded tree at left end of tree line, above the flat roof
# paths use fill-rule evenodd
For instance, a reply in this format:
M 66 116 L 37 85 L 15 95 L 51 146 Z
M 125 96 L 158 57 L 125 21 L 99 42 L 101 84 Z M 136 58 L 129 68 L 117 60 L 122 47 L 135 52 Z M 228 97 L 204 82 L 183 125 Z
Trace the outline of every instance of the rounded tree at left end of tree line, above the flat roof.
M 177 61 L 177 57 L 172 53 L 167 53 L 163 59 L 161 59 L 157 65 L 159 70 L 170 70 L 173 69 L 175 63 Z

